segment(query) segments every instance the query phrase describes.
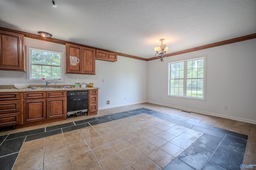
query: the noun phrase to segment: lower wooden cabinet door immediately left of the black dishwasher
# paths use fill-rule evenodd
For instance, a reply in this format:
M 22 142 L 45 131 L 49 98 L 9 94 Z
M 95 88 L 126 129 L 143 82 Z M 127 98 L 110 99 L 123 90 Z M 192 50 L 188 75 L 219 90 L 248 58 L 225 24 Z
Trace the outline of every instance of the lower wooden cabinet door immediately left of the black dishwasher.
M 66 98 L 47 99 L 47 119 L 67 116 Z

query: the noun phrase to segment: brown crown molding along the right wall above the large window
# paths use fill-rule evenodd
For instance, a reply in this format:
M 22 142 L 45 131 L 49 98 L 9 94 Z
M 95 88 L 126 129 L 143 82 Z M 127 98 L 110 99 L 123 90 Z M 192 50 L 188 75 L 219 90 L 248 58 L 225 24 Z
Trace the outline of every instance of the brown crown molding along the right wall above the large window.
M 167 54 L 167 57 L 171 57 L 171 56 L 174 56 L 174 55 L 180 55 L 180 54 L 184 54 L 184 53 L 190 53 L 190 52 L 193 52 L 193 51 L 198 51 L 198 50 L 203 50 L 203 49 L 209 49 L 209 48 L 218 47 L 218 46 L 221 46 L 221 45 L 237 43 L 237 42 L 240 42 L 240 41 L 246 41 L 246 40 L 254 39 L 254 38 L 256 38 L 256 33 L 250 34 L 250 35 L 245 35 L 245 36 L 242 36 L 242 37 L 237 37 L 237 38 L 233 38 L 233 39 L 220 41 L 220 42 L 217 42 L 217 43 L 202 45 L 202 46 L 194 47 L 194 48 L 191 48 L 191 49 L 177 51 L 177 52 L 174 52 L 174 53 L 169 53 L 169 54 Z M 152 60 L 157 60 L 157 59 L 158 58 L 156 58 L 156 57 L 152 57 L 152 58 L 147 59 L 147 61 L 152 61 Z

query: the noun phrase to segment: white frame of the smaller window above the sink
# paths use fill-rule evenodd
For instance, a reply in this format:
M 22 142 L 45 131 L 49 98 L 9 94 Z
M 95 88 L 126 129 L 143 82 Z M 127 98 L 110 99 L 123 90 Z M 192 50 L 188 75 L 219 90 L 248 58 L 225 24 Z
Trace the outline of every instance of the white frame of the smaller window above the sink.
M 30 78 L 31 75 L 31 54 L 30 54 L 30 50 L 34 49 L 34 50 L 40 50 L 40 51 L 47 51 L 47 52 L 52 52 L 52 53 L 61 53 L 61 78 L 59 80 L 54 80 L 52 78 L 45 78 L 43 79 L 34 79 L 34 78 Z M 44 48 L 40 48 L 40 47 L 31 47 L 31 46 L 26 46 L 26 59 L 27 59 L 27 82 L 46 82 L 46 81 L 56 81 L 56 82 L 65 82 L 65 74 L 64 74 L 64 69 L 65 69 L 65 65 L 64 65 L 64 51 L 58 51 L 55 49 L 44 49 Z

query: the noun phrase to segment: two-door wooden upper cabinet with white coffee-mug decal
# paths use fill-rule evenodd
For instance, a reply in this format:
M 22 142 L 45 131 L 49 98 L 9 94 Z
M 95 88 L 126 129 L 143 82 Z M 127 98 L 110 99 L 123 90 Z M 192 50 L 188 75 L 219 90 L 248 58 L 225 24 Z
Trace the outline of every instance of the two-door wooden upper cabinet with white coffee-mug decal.
M 95 74 L 96 50 L 66 43 L 66 73 Z

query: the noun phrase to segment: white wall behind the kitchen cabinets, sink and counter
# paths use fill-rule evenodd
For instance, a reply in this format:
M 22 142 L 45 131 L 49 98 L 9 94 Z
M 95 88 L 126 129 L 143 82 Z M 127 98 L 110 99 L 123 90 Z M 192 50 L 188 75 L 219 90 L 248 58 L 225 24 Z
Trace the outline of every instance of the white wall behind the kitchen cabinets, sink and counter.
M 65 51 L 65 45 L 26 38 L 26 45 Z M 27 83 L 26 72 L 0 70 L 0 85 Z M 147 100 L 147 62 L 118 56 L 118 61 L 96 60 L 96 75 L 65 74 L 65 82 L 57 84 L 94 83 L 98 87 L 98 109 L 126 106 Z M 104 80 L 104 82 L 102 81 Z M 31 85 L 45 83 L 28 82 Z M 126 98 L 126 100 L 124 100 Z M 106 105 L 106 100 L 110 104 Z

